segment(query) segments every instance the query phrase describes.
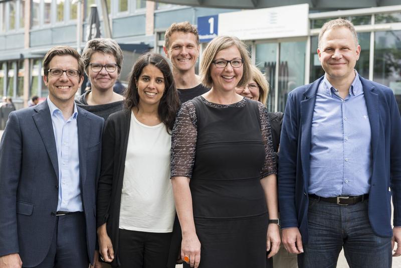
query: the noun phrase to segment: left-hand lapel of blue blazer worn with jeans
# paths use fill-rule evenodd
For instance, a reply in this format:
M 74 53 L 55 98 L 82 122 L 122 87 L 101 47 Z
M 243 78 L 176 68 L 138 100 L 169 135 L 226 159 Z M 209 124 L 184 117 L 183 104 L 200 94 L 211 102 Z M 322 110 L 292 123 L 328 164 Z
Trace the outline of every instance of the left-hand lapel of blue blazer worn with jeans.
M 312 130 L 312 118 L 313 110 L 315 108 L 316 92 L 319 87 L 320 79 L 314 81 L 308 89 L 304 92 L 304 100 L 301 101 L 301 116 L 300 116 L 300 131 L 301 140 L 298 141 L 301 144 L 301 163 L 302 172 L 304 174 L 304 185 L 307 189 L 309 183 L 309 168 L 310 168 L 310 142 L 311 142 L 311 130 Z

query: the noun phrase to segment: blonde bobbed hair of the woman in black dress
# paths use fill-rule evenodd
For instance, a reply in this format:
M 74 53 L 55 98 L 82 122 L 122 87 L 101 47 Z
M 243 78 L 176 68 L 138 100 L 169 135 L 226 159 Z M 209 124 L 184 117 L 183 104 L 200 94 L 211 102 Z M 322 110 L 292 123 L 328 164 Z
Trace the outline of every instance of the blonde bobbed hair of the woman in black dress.
M 249 58 L 249 52 L 247 50 L 247 46 L 239 40 L 237 37 L 232 36 L 218 36 L 213 39 L 209 45 L 206 47 L 203 55 L 202 62 L 200 63 L 200 77 L 202 79 L 202 83 L 206 87 L 212 87 L 213 81 L 211 76 L 211 65 L 212 61 L 215 60 L 217 53 L 220 51 L 230 48 L 232 46 L 236 46 L 240 51 L 241 58 L 244 60 L 243 64 L 243 74 L 241 80 L 238 82 L 239 87 L 245 86 L 248 81 L 251 79 L 251 59 Z

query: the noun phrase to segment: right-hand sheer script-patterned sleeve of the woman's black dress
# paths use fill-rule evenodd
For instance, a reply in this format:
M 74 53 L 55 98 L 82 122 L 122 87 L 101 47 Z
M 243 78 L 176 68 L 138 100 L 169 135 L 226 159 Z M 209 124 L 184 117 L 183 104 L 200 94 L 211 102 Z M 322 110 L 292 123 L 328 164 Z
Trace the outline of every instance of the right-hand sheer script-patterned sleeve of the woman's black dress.
M 270 174 L 277 173 L 276 157 L 273 150 L 273 140 L 272 140 L 272 129 L 270 126 L 269 116 L 267 115 L 267 110 L 263 103 L 259 104 L 259 114 L 261 122 L 262 140 L 265 144 L 265 164 L 263 165 L 261 178 L 269 176 Z

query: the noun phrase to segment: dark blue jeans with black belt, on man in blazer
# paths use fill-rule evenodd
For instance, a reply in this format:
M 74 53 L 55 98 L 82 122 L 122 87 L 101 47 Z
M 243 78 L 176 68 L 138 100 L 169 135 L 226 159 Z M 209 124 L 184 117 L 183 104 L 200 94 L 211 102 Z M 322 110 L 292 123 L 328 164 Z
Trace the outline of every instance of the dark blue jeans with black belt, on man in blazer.
M 350 268 L 391 268 L 391 237 L 373 232 L 367 204 L 340 206 L 309 198 L 309 240 L 298 255 L 299 267 L 335 268 L 344 247 Z

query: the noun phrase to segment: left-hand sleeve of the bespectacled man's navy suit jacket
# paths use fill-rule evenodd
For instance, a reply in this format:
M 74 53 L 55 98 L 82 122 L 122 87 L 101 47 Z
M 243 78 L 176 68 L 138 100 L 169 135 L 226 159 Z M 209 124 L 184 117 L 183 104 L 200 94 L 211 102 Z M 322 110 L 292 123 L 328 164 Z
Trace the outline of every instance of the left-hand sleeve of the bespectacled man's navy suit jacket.
M 0 256 L 18 253 L 17 189 L 22 162 L 21 125 L 10 113 L 0 143 Z

